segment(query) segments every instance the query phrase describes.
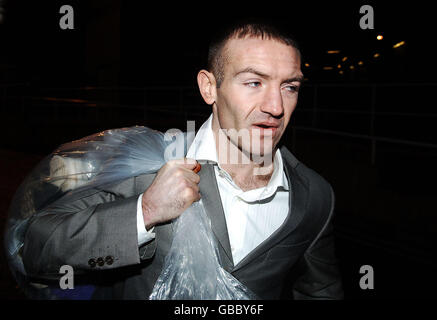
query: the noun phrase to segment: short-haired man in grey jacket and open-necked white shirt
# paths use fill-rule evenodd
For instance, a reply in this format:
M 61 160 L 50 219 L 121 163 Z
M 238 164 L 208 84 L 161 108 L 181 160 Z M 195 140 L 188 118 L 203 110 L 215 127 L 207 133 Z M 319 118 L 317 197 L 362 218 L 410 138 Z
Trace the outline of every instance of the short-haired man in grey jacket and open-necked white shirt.
M 100 298 L 146 299 L 174 219 L 202 198 L 222 267 L 258 297 L 343 297 L 332 189 L 278 147 L 303 79 L 295 42 L 266 25 L 237 25 L 213 41 L 208 60 L 197 80 L 212 115 L 186 158 L 39 214 L 23 250 L 30 275 L 56 274 L 63 264 L 108 270 L 110 295 Z

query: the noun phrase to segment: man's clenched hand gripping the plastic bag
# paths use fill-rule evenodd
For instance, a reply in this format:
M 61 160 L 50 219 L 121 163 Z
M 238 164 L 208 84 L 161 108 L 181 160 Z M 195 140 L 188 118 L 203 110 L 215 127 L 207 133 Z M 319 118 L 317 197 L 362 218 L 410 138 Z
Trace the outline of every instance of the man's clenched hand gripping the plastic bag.
M 194 201 L 200 200 L 200 177 L 193 171 L 196 166 L 199 166 L 196 160 L 184 158 L 171 160 L 158 171 L 143 194 L 143 218 L 147 230 L 179 217 Z

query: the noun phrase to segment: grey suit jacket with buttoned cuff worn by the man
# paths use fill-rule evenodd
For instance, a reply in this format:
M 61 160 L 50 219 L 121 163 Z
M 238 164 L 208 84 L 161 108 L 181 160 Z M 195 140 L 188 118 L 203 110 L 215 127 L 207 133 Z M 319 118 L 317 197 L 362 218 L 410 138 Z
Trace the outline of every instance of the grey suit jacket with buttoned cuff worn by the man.
M 320 175 L 285 147 L 281 154 L 290 185 L 284 223 L 237 265 L 212 164 L 202 166 L 200 192 L 228 272 L 262 299 L 341 299 L 332 233 L 334 194 Z M 154 179 L 140 175 L 62 198 L 35 216 L 26 233 L 23 260 L 37 279 L 59 277 L 64 264 L 92 279 L 95 298 L 147 299 L 172 242 L 173 223 L 155 226 L 156 237 L 138 247 L 138 196 Z

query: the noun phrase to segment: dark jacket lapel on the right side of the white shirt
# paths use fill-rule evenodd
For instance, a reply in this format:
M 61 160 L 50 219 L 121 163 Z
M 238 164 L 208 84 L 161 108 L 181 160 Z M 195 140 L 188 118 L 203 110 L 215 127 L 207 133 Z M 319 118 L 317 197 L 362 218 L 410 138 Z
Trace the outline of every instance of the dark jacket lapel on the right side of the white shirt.
M 270 237 L 260 243 L 254 250 L 244 257 L 243 260 L 235 266 L 232 272 L 243 268 L 260 254 L 270 250 L 278 242 L 283 240 L 296 229 L 305 214 L 309 195 L 308 183 L 296 172 L 296 166 L 298 165 L 297 159 L 285 148 L 281 149 L 281 154 L 284 159 L 284 170 L 287 175 L 288 185 L 290 186 L 290 194 L 288 198 L 289 211 L 287 218 Z

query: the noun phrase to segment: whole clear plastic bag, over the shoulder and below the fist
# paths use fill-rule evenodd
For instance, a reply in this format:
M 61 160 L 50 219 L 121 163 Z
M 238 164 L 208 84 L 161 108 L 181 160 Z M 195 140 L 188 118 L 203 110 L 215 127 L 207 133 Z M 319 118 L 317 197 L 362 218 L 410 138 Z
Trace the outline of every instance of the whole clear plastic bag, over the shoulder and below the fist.
M 172 157 L 185 155 L 185 140 L 183 134 L 168 137 L 146 127 L 107 130 L 64 144 L 44 158 L 18 188 L 5 233 L 10 269 L 27 296 L 89 299 L 94 290 L 92 284 L 84 284 L 62 291 L 59 286 L 34 283 L 27 277 L 21 249 L 32 216 L 86 188 L 157 172 Z M 210 220 L 201 201 L 177 219 L 174 234 L 162 273 L 145 299 L 256 298 L 220 266 Z

